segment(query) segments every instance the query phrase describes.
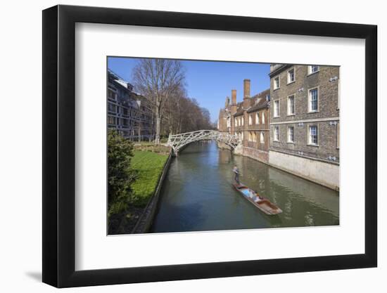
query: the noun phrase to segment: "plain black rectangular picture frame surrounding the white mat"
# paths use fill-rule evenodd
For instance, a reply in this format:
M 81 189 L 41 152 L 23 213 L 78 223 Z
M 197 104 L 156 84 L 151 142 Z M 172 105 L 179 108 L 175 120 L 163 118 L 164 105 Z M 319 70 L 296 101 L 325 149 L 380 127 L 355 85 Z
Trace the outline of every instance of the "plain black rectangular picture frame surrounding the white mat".
M 365 39 L 365 253 L 75 271 L 75 23 Z M 119 8 L 43 11 L 43 282 L 55 287 L 377 266 L 377 27 Z

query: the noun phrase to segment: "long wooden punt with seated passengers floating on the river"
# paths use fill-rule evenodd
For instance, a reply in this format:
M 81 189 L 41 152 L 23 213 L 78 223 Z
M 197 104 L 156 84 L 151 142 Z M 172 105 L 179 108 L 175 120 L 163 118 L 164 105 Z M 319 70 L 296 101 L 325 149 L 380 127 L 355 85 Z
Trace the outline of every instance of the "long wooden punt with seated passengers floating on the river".
M 277 207 L 277 205 L 270 202 L 266 197 L 261 197 L 258 193 L 255 193 L 254 190 L 251 190 L 246 185 L 232 183 L 236 191 L 238 191 L 243 198 L 248 200 L 250 204 L 253 204 L 255 207 L 263 211 L 268 215 L 277 215 L 281 214 L 282 210 Z

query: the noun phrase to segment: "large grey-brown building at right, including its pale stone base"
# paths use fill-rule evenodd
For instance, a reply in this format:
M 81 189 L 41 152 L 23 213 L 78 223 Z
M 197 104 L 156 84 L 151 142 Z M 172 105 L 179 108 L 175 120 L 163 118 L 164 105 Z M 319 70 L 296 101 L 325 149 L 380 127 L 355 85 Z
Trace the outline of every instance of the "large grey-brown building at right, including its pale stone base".
M 339 188 L 339 67 L 270 66 L 269 164 Z

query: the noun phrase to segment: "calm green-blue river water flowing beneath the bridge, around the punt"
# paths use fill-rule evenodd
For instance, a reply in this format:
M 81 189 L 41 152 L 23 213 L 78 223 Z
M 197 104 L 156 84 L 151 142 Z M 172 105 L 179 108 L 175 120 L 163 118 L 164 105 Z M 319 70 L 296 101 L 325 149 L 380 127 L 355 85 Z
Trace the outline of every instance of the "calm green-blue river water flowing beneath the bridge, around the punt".
M 231 186 L 236 164 L 241 183 L 284 212 L 267 216 Z M 338 225 L 338 192 L 214 142 L 192 143 L 172 159 L 151 233 Z

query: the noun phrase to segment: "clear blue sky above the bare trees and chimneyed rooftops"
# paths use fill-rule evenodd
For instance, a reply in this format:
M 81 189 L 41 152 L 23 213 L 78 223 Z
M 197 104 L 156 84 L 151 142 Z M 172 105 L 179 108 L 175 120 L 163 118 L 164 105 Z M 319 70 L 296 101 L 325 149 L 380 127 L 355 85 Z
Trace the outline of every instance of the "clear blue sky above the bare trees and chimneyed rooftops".
M 108 58 L 108 68 L 132 83 L 132 70 L 137 58 Z M 215 122 L 226 96 L 236 89 L 236 100 L 243 100 L 243 79 L 251 81 L 251 96 L 269 89 L 269 64 L 219 61 L 182 60 L 186 70 L 186 90 L 189 98 L 196 98 L 201 107 L 210 111 Z

